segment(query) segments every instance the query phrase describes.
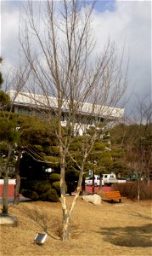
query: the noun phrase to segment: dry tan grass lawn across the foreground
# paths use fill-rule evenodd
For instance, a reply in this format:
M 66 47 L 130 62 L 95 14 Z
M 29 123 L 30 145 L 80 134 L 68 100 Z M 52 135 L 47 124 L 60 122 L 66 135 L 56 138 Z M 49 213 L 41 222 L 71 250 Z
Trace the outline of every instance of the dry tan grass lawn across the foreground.
M 67 197 L 68 203 L 72 197 Z M 0 226 L 0 255 L 152 255 L 152 201 L 129 201 L 100 206 L 78 199 L 72 215 L 72 239 L 60 241 L 60 203 L 22 202 L 10 206 L 17 227 Z M 43 246 L 33 243 L 37 232 L 49 234 Z

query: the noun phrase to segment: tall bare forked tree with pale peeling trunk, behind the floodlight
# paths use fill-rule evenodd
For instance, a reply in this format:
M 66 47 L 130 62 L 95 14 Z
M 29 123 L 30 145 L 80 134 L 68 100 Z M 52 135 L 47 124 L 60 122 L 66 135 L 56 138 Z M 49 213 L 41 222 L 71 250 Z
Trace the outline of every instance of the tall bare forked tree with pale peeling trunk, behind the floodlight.
M 94 3 L 76 0 L 29 2 L 25 27 L 20 31 L 20 44 L 31 67 L 29 97 L 58 120 L 63 240 L 70 240 L 71 213 L 81 191 L 87 157 L 103 132 L 101 121 L 118 119 L 124 111 L 115 108 L 127 86 L 127 73 L 121 73 L 123 53 L 118 61 L 115 44 L 109 42 L 103 53 L 92 58 L 93 7 Z M 43 96 L 36 97 L 36 92 Z M 91 125 L 93 132 L 87 132 Z M 70 154 L 70 144 L 74 135 L 81 132 L 82 160 L 78 162 L 75 154 Z M 80 170 L 70 206 L 65 197 L 67 156 Z

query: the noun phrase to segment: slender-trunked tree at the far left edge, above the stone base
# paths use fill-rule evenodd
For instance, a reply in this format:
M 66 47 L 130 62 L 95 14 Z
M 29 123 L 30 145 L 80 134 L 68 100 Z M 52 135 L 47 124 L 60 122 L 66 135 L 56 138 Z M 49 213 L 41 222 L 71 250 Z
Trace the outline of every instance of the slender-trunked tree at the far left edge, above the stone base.
M 2 61 L 2 60 L 1 60 Z M 2 74 L 1 74 L 2 76 Z M 0 90 L 0 118 L 2 120 L 2 126 L 1 129 L 1 146 L 6 144 L 7 153 L 6 153 L 6 159 L 5 163 L 3 163 L 3 160 L 1 158 L 0 163 L 0 172 L 3 173 L 3 213 L 8 213 L 8 166 L 10 165 L 10 161 L 13 158 L 13 149 L 15 148 L 16 143 L 19 143 L 19 137 L 20 133 L 17 129 L 17 119 L 16 116 L 12 114 L 13 110 L 13 103 L 18 96 L 20 90 L 24 87 L 25 81 L 29 77 L 29 70 L 28 66 L 22 65 L 20 63 L 20 67 L 17 70 L 14 70 L 12 72 L 12 76 L 9 77 L 7 81 L 5 81 L 5 84 L 3 85 L 3 88 L 7 90 L 9 88 L 8 84 L 14 86 L 15 92 L 14 97 L 9 98 L 8 94 L 5 93 L 3 90 Z M 3 81 L 2 77 L 1 80 Z M 8 82 L 8 84 L 7 84 Z M 7 131 L 9 130 L 9 131 Z M 18 183 L 18 179 L 16 180 Z M 17 187 L 16 187 L 17 188 Z

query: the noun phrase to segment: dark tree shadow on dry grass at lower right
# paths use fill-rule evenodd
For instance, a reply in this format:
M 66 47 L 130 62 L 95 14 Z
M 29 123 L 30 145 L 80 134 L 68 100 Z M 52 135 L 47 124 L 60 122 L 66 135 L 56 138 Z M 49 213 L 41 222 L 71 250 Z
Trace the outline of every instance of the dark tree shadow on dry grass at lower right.
M 101 228 L 99 231 L 108 241 L 120 247 L 152 247 L 152 225 L 127 226 L 125 228 Z

